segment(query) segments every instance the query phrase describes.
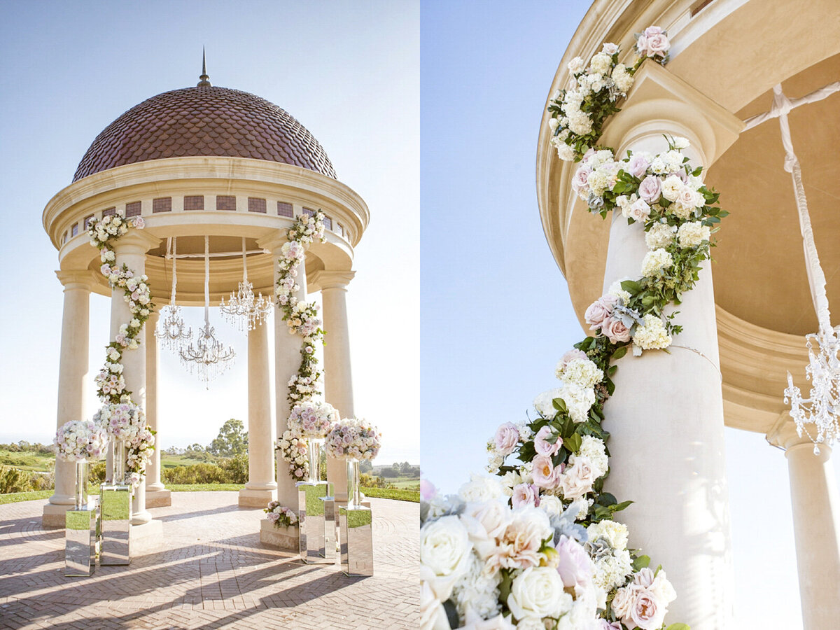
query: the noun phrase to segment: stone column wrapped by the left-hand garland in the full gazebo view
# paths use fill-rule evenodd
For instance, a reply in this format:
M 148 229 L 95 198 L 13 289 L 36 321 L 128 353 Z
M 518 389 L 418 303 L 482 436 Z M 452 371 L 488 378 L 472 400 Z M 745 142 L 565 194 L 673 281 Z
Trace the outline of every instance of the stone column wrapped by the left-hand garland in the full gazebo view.
M 122 266 L 124 263 L 134 271 L 135 276 L 142 276 L 145 273 L 146 252 L 157 240 L 142 230 L 130 230 L 113 243 L 115 264 Z M 133 317 L 124 296 L 125 293 L 120 287 L 114 288 L 111 293 L 111 339 L 117 336 L 119 327 L 123 323 L 129 323 Z M 134 402 L 146 409 L 146 349 L 142 335 L 139 341 L 138 349 L 123 350 L 123 376 L 125 386 L 131 391 Z M 132 508 L 132 525 L 144 525 L 151 521 L 152 515 L 146 510 L 146 480 L 134 489 Z

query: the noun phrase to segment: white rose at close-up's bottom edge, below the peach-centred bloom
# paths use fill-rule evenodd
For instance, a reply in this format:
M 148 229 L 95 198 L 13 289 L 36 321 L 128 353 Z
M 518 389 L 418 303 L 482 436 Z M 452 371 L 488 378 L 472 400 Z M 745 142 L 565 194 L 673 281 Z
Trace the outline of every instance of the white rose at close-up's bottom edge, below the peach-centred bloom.
M 526 617 L 559 617 L 574 600 L 564 591 L 563 580 L 554 567 L 528 567 L 517 575 L 507 597 L 507 607 L 517 620 Z

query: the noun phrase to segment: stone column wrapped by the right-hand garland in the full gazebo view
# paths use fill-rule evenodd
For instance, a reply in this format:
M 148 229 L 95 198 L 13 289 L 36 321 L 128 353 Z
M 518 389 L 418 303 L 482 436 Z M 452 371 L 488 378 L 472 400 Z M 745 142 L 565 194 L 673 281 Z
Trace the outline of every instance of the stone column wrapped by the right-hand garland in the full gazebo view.
M 271 255 L 274 257 L 274 280 L 275 283 L 280 275 L 279 265 L 277 261 L 280 260 L 281 247 L 286 243 L 286 230 L 281 230 L 281 234 L 277 234 L 274 239 L 266 239 L 265 242 L 260 241 L 260 247 L 269 249 Z M 307 299 L 307 274 L 305 269 L 300 269 L 295 278 L 297 285 L 300 287 L 293 295 L 298 300 Z M 272 297 L 273 291 L 272 291 Z M 289 380 L 293 375 L 297 374 L 297 369 L 301 365 L 301 348 L 303 339 L 300 335 L 290 334 L 289 327 L 283 320 L 282 311 L 276 307 L 274 309 L 274 375 L 275 375 L 275 412 L 276 412 L 276 428 L 277 437 L 286 431 L 289 412 L 291 405 L 289 405 L 286 397 L 289 391 Z M 277 475 L 277 501 L 282 505 L 288 507 L 297 507 L 297 490 L 295 488 L 295 480 L 289 475 L 289 465 L 285 459 L 282 458 L 280 451 L 275 451 L 276 454 L 276 475 Z

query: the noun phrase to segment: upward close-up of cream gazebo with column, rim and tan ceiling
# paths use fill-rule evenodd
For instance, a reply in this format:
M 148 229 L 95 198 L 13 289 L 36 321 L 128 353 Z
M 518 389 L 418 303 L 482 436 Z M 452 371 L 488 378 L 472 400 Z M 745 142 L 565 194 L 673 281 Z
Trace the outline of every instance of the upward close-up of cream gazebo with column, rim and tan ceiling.
M 636 499 L 622 521 L 630 526 L 630 546 L 667 568 L 680 594 L 673 618 L 694 630 L 728 627 L 732 549 L 723 428 L 766 435 L 788 460 L 805 627 L 834 627 L 840 501 L 831 448 L 820 444 L 814 454 L 810 439 L 797 435 L 784 400 L 788 370 L 803 392 L 811 387 L 804 338 L 817 330 L 811 278 L 780 121 L 753 117 L 774 108 L 777 84 L 794 102 L 794 108 L 782 102 L 774 109 L 790 120 L 827 297 L 837 308 L 840 215 L 832 191 L 840 5 L 596 0 L 560 60 L 549 95 L 570 84 L 570 60 L 589 60 L 604 42 L 619 45 L 619 60 L 632 63 L 634 34 L 654 24 L 668 32 L 671 59 L 664 67 L 649 60 L 641 66 L 598 144 L 623 157 L 627 150 L 667 150 L 662 134 L 689 139 L 692 163 L 704 166 L 731 216 L 717 234 L 715 264 L 704 265 L 678 307 L 685 330 L 670 354 L 627 353 L 617 361 L 616 395 L 604 425 L 612 432 L 607 486 Z M 587 212 L 572 187 L 577 165 L 558 159 L 551 135 L 545 113 L 539 211 L 588 332 L 586 307 L 613 281 L 637 273 L 647 248 L 639 223 L 628 226 L 621 216 L 601 221 Z

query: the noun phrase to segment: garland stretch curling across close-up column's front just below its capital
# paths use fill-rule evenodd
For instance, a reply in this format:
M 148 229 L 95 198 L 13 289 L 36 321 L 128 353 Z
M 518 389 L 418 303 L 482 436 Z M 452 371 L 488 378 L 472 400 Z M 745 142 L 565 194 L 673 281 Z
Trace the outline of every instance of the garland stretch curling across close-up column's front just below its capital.
M 590 150 L 580 161 L 572 187 L 591 213 L 606 218 L 621 212 L 627 223 L 643 223 L 648 254 L 642 277 L 619 281 L 586 309 L 586 323 L 611 344 L 633 342 L 633 353 L 665 349 L 679 333 L 671 302 L 694 287 L 701 264 L 711 256 L 711 234 L 727 212 L 706 187 L 702 168 L 692 169 L 685 138 L 670 138 L 660 155 L 627 151 L 615 160 L 611 150 Z

